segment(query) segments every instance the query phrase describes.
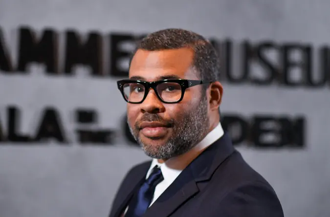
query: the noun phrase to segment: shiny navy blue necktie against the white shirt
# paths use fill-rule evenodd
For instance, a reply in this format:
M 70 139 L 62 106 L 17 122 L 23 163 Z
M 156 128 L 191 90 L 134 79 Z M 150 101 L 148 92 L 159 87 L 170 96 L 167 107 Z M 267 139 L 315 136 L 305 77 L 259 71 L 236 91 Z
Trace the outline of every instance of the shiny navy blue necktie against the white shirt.
M 138 193 L 133 196 L 131 202 L 129 203 L 128 211 L 125 214 L 125 217 L 142 217 L 153 199 L 156 185 L 163 180 L 164 177 L 160 168 L 157 166 L 154 167 L 153 172 L 142 184 Z

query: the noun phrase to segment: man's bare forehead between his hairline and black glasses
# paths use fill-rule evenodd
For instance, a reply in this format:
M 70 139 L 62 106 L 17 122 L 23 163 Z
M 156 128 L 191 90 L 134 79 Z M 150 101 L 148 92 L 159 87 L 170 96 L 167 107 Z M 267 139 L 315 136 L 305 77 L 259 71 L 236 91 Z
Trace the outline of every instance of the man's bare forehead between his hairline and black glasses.
M 194 52 L 190 48 L 148 51 L 139 49 L 135 53 L 130 78 L 161 80 L 166 78 L 185 78 L 194 73 L 192 67 Z

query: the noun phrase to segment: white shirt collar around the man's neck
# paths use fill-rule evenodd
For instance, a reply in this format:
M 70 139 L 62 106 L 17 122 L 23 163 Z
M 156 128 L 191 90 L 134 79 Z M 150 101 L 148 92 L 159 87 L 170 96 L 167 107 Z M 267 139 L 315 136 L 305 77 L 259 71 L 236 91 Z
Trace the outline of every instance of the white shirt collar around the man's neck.
M 210 145 L 212 145 L 215 141 L 217 141 L 222 135 L 224 134 L 223 129 L 221 124 L 219 123 L 219 125 L 214 128 L 213 130 L 211 130 L 196 146 L 196 148 L 198 150 L 204 150 L 207 147 L 209 147 Z M 198 151 L 197 150 L 197 151 Z M 158 166 L 163 174 L 164 177 L 164 181 L 168 182 L 168 183 L 172 183 L 176 177 L 182 172 L 182 170 L 176 170 L 176 169 L 172 169 L 166 166 L 166 163 L 159 163 L 157 159 L 153 159 L 151 165 L 150 165 L 150 169 L 147 173 L 147 178 L 149 177 L 149 175 L 151 174 L 153 168 L 155 166 Z M 188 165 L 185 165 L 188 166 Z

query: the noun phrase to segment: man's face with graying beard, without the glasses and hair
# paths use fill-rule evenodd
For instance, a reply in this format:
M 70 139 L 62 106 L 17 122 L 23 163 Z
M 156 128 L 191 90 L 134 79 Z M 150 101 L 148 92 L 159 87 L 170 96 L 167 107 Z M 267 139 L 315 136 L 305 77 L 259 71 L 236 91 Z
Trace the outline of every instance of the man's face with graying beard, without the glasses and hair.
M 194 52 L 189 48 L 138 50 L 130 67 L 130 79 L 148 82 L 165 78 L 200 80 L 191 67 Z M 153 89 L 141 104 L 127 104 L 128 124 L 144 152 L 169 159 L 193 148 L 209 128 L 208 100 L 202 86 L 187 88 L 181 102 L 162 103 Z M 161 127 L 159 127 L 161 125 Z

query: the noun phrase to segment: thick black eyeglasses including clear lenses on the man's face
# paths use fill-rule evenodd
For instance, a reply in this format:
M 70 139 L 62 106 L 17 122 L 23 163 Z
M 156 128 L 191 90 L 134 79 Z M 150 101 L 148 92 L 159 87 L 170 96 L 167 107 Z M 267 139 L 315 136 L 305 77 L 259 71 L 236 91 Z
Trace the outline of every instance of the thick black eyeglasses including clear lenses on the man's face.
M 187 88 L 209 83 L 212 82 L 185 79 L 165 79 L 146 82 L 125 79 L 117 81 L 117 86 L 128 103 L 142 103 L 147 98 L 150 88 L 153 88 L 161 102 L 171 104 L 180 102 Z

